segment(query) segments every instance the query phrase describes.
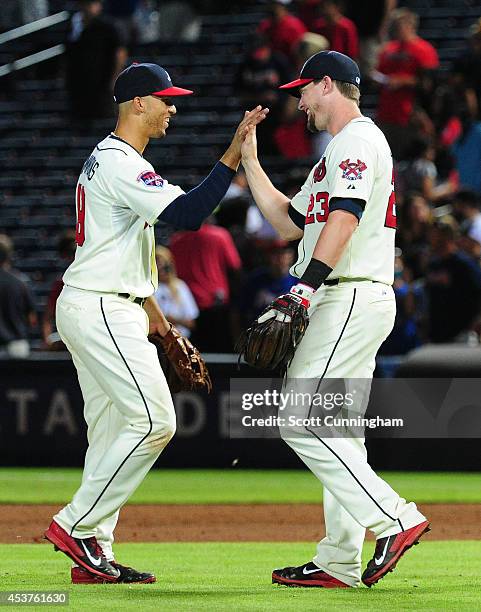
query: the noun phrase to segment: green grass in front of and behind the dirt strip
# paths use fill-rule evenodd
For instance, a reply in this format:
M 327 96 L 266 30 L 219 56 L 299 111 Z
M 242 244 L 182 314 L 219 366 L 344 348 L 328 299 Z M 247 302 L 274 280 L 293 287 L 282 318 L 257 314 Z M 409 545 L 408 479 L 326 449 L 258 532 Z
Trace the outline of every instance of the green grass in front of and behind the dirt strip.
M 481 474 L 384 473 L 421 503 L 481 503 Z M 0 503 L 68 501 L 77 469 L 0 469 Z M 154 470 L 131 503 L 319 503 L 322 488 L 307 471 Z M 373 542 L 364 550 L 364 564 Z M 117 544 L 116 557 L 154 571 L 153 585 L 72 585 L 70 562 L 43 544 L 0 544 L 0 590 L 67 591 L 74 610 L 296 611 L 481 609 L 481 540 L 423 541 L 372 589 L 289 589 L 270 583 L 275 567 L 305 563 L 313 542 Z M 30 606 L 53 609 L 53 606 Z M 58 606 L 55 607 L 58 609 Z

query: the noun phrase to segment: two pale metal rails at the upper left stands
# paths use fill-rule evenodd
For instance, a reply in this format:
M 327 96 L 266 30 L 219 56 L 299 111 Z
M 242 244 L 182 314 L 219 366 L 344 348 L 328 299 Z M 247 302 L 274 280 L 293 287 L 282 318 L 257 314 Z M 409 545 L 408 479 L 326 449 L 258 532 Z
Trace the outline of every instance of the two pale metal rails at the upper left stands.
M 57 25 L 58 23 L 63 23 L 69 18 L 70 13 L 68 11 L 60 11 L 60 13 L 55 13 L 55 15 L 49 15 L 48 17 L 43 17 L 37 21 L 32 21 L 32 23 L 27 23 L 18 28 L 13 28 L 13 30 L 0 34 L 0 45 L 11 40 L 16 40 L 22 36 L 27 36 L 33 32 L 45 30 L 53 25 Z M 14 60 L 13 62 L 0 66 L 0 77 L 10 74 L 11 72 L 16 72 L 17 70 L 21 70 L 22 68 L 27 68 L 28 66 L 34 66 L 35 64 L 44 62 L 52 57 L 56 57 L 57 55 L 62 55 L 64 52 L 65 45 L 60 44 L 49 47 L 48 49 L 43 49 L 37 53 L 32 53 L 31 55 L 27 55 L 26 57 L 22 57 L 18 60 Z

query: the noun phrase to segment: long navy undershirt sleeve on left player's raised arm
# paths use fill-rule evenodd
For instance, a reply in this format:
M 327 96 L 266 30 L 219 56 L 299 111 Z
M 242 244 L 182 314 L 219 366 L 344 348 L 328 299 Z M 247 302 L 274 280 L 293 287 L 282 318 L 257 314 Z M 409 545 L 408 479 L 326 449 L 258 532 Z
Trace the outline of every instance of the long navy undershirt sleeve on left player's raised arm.
M 202 183 L 173 200 L 158 220 L 178 229 L 199 229 L 225 196 L 234 174 L 232 168 L 217 162 Z

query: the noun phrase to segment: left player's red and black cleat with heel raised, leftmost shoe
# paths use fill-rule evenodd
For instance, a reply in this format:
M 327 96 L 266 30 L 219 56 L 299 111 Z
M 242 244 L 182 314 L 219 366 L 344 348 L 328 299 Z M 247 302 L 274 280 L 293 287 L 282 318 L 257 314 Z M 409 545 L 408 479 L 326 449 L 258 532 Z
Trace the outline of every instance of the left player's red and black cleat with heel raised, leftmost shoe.
M 52 542 L 55 550 L 61 550 L 94 576 L 109 582 L 116 582 L 120 576 L 120 571 L 105 558 L 95 537 L 73 538 L 58 523 L 52 521 L 45 532 L 45 538 Z

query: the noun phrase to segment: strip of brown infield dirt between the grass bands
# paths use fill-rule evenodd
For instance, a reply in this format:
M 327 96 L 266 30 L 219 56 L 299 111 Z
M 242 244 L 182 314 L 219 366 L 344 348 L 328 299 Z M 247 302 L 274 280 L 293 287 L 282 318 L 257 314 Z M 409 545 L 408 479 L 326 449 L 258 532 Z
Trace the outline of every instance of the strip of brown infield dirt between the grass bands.
M 422 505 L 433 540 L 481 539 L 481 505 Z M 42 542 L 58 506 L 0 506 L 0 542 Z M 125 506 L 118 542 L 296 542 L 324 535 L 314 504 Z M 368 534 L 368 538 L 371 534 Z

